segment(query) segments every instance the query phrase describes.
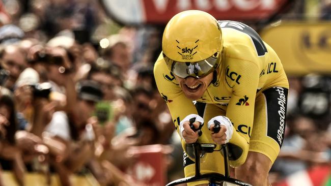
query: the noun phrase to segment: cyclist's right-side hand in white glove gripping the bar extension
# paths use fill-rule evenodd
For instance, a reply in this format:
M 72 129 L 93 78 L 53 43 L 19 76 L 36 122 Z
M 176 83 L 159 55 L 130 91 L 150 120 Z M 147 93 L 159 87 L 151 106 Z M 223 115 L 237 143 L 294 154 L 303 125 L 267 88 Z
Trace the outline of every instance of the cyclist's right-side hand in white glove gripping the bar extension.
M 215 128 L 219 126 L 219 131 L 214 132 Z M 233 134 L 232 123 L 229 118 L 225 116 L 216 116 L 208 121 L 208 129 L 213 131 L 211 138 L 217 144 L 225 144 L 230 141 Z

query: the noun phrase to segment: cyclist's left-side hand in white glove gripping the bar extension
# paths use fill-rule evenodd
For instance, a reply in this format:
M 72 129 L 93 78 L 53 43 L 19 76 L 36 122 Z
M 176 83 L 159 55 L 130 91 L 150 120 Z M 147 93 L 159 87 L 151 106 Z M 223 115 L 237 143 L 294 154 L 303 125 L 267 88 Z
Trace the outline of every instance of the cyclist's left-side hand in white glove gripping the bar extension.
M 197 114 L 189 114 L 179 123 L 179 135 L 186 143 L 194 143 L 198 137 L 202 135 L 201 127 L 203 126 L 203 118 Z M 192 123 L 192 127 L 190 124 Z

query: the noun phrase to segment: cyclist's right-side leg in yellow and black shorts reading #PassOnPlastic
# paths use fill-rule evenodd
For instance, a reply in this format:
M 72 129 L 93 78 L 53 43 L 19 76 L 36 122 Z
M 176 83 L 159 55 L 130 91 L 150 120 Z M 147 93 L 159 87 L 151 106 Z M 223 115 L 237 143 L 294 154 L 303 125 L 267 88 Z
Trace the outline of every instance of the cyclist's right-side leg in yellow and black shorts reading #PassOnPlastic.
M 268 173 L 284 138 L 288 89 L 273 87 L 258 94 L 250 150 L 236 178 L 253 185 L 269 185 Z

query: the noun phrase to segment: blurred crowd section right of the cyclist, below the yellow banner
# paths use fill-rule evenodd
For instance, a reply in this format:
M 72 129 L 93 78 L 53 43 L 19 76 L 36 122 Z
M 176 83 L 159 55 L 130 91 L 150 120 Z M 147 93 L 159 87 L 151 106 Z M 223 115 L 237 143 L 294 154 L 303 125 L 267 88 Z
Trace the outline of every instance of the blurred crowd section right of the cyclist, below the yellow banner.
M 330 83 L 327 75 L 289 78 L 285 137 L 272 181 L 331 165 Z

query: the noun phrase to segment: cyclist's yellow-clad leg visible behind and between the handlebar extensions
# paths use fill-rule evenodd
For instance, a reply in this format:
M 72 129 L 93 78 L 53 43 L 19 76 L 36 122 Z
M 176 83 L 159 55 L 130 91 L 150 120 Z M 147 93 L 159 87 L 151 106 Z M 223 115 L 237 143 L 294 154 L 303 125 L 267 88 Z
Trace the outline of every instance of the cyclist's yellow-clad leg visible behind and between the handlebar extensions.
M 211 132 L 208 130 L 207 122 L 209 121 L 209 119 L 217 115 L 225 115 L 225 111 L 215 105 L 206 104 L 204 112 L 205 125 L 202 128 L 203 136 L 199 138 L 200 143 L 214 143 L 211 139 Z M 219 149 L 219 146 L 217 145 L 216 148 Z M 213 153 L 206 153 L 205 156 L 200 160 L 200 163 L 200 172 L 202 174 L 210 172 L 224 174 L 223 157 L 219 151 L 215 151 Z M 195 162 L 191 158 L 188 158 L 186 153 L 184 153 L 184 173 L 185 177 L 195 175 Z M 192 183 L 187 183 L 187 185 L 208 185 L 208 181 L 196 181 Z

